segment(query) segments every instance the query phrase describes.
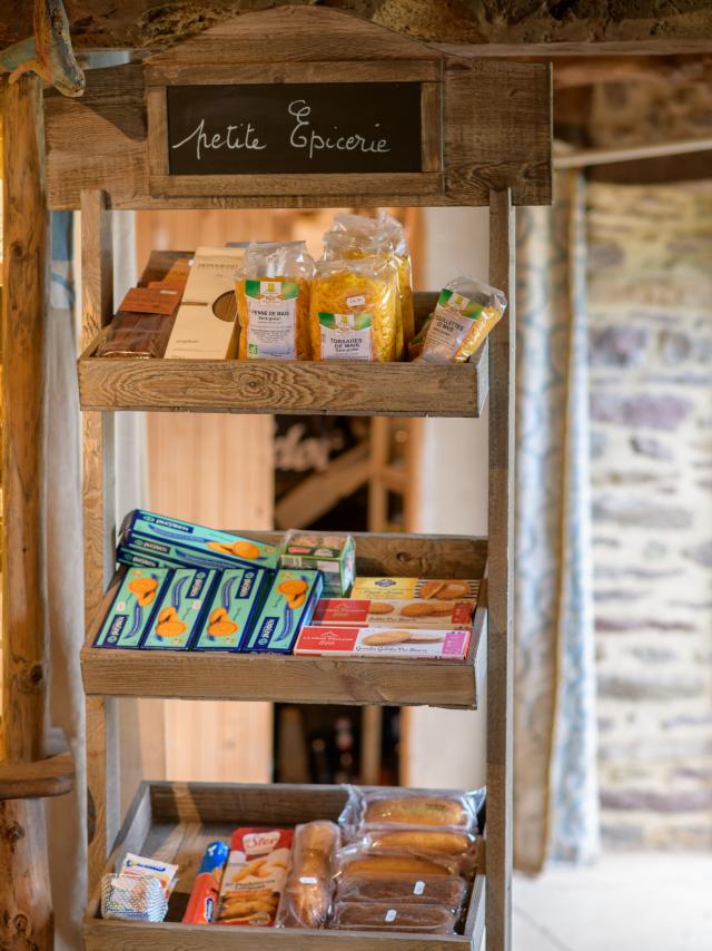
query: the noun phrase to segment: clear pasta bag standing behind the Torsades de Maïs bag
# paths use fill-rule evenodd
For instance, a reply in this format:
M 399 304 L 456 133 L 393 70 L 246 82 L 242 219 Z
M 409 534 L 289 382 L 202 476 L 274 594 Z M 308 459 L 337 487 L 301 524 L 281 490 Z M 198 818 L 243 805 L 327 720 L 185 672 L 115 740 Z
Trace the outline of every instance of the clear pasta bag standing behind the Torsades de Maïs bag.
M 329 244 L 336 245 L 338 237 L 346 237 L 352 248 L 360 246 L 363 254 L 386 255 L 393 258 L 398 272 L 398 297 L 400 301 L 400 339 L 396 341 L 397 359 L 400 359 L 404 346 L 407 346 L 415 332 L 413 311 L 413 269 L 411 253 L 405 239 L 405 231 L 400 222 L 388 215 L 384 208 L 378 210 L 377 218 L 365 215 L 343 213 L 336 215 L 332 231 L 324 236 L 324 256 L 329 256 Z M 339 256 L 338 254 L 332 256 Z M 343 257 L 357 257 L 358 254 L 345 253 Z

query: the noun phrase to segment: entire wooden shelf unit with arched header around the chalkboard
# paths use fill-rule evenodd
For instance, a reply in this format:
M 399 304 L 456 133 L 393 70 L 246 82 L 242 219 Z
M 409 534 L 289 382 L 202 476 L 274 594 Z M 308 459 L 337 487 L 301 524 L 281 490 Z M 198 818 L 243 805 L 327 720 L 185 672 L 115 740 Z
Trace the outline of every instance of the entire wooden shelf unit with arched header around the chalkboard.
M 176 85 L 278 82 L 421 82 L 421 171 L 330 175 L 189 175 L 171 176 L 168 168 L 167 88 Z M 115 573 L 113 412 L 162 409 L 235 412 L 339 412 L 475 416 L 488 393 L 490 501 L 486 643 L 481 636 L 474 667 L 405 665 L 405 687 L 390 685 L 390 673 L 368 661 L 358 665 L 316 665 L 322 695 L 350 692 L 354 703 L 389 702 L 472 706 L 477 700 L 476 674 L 487 668 L 487 850 L 484 878 L 475 883 L 465 934 L 452 938 L 407 934 L 294 932 L 245 929 L 196 929 L 178 924 L 139 925 L 97 920 L 97 899 L 86 922 L 87 948 L 154 951 L 155 948 L 336 948 L 364 951 L 478 951 L 486 923 L 487 951 L 510 951 L 512 880 L 512 572 L 514 513 L 514 214 L 517 204 L 548 204 L 552 195 L 551 69 L 533 62 L 478 62 L 443 52 L 358 17 L 324 7 L 277 7 L 249 12 L 191 37 L 144 61 L 89 70 L 82 99 L 53 91 L 44 98 L 47 195 L 50 208 L 82 213 L 82 347 L 79 379 L 83 414 L 83 524 L 86 628 L 100 608 Z M 205 97 L 204 97 L 205 98 Z M 435 122 L 435 126 L 433 124 Z M 438 125 L 439 124 L 439 125 Z M 493 330 L 488 346 L 465 366 L 315 366 L 281 364 L 239 366 L 235 362 L 198 365 L 172 361 L 111 361 L 91 354 L 110 323 L 112 301 L 111 210 L 113 208 L 270 208 L 364 206 L 488 206 L 490 284 L 510 304 Z M 488 383 L 487 383 L 488 376 Z M 465 463 L 463 463 L 465 464 Z M 358 540 L 359 557 L 368 537 Z M 398 542 L 399 543 L 399 542 Z M 441 575 L 445 555 L 451 563 L 462 541 L 448 539 L 428 549 L 427 539 L 413 542 L 429 551 L 429 570 L 409 570 L 408 557 L 395 558 L 388 573 Z M 465 543 L 473 543 L 473 540 Z M 485 548 L 479 545 L 479 557 Z M 397 545 L 397 543 L 396 543 Z M 395 551 L 395 548 L 394 548 Z M 413 555 L 413 550 L 412 550 Z M 382 562 L 385 563 L 385 562 Z M 461 568 L 466 562 L 461 563 Z M 467 566 L 469 568 L 469 566 Z M 484 572 L 484 563 L 479 566 Z M 476 577 L 482 577 L 477 575 Z M 484 612 L 481 611 L 484 621 Z M 484 624 L 482 624 L 484 634 Z M 96 889 L 106 866 L 108 843 L 119 827 L 117 720 L 112 697 L 147 689 L 148 669 L 140 660 L 115 653 L 116 670 L 83 650 L 87 697 L 87 784 L 89 808 L 89 880 Z M 184 660 L 184 658 L 179 658 Z M 225 658 L 240 670 L 280 671 L 271 659 Z M 154 695 L 204 695 L 208 670 L 188 659 L 179 680 L 168 669 L 174 658 L 150 657 L 154 677 L 165 677 Z M 280 659 L 281 661 L 281 659 Z M 212 664 L 221 664 L 212 661 Z M 286 667 L 287 663 L 294 666 Z M 285 669 L 300 670 L 299 658 L 285 658 Z M 126 666 L 125 666 L 126 665 Z M 270 668 L 269 665 L 273 665 Z M 389 667 L 389 665 L 386 665 Z M 225 669 L 230 669 L 226 667 Z M 313 685 L 312 673 L 299 675 Z M 192 673 L 191 673 L 192 671 Z M 326 674 L 328 673 L 328 677 Z M 337 676 L 334 676 L 334 675 Z M 465 680 L 463 680 L 463 675 Z M 241 674 L 238 678 L 241 678 Z M 255 675 L 256 676 L 256 675 Z M 276 673 L 279 689 L 307 696 L 307 686 L 287 685 Z M 446 679 L 447 678 L 447 679 Z M 190 680 L 190 683 L 188 683 Z M 335 686 L 335 683 L 337 686 Z M 227 692 L 220 688 L 220 694 Z M 236 692 L 243 687 L 235 687 Z M 259 686 L 257 693 L 267 693 Z M 308 687 L 309 690 L 313 686 Z M 165 690 L 165 693 L 164 693 Z M 196 693 L 190 693 L 194 690 Z M 363 690 L 363 693 L 360 693 Z M 335 696 L 334 694 L 334 696 Z M 240 693 L 240 696 L 243 694 Z M 294 696 L 291 694 L 290 696 Z M 336 698 L 336 697 L 335 697 Z M 344 696 L 338 697 L 339 700 Z M 162 788 L 162 787 L 161 787 Z M 194 790 L 192 786 L 188 787 Z M 176 836 L 191 839 L 206 816 L 194 811 L 164 821 L 159 801 L 178 801 L 151 787 L 150 806 L 127 820 L 142 829 L 132 847 L 150 851 Z M 197 795 L 197 793 L 196 793 Z M 224 793 L 219 793 L 224 796 Z M 228 793 L 227 795 L 231 795 Z M 316 795 L 316 794 L 315 794 Z M 189 798 L 189 797 L 188 797 Z M 144 797 L 146 801 L 146 797 Z M 235 802 L 239 805 L 239 798 Z M 317 800 L 315 798 L 315 803 Z M 165 805 L 168 808 L 168 805 Z M 151 810 L 157 808 L 156 813 Z M 155 815 L 156 823 L 151 818 Z M 141 817 L 142 816 L 142 817 Z M 228 824 L 245 821 L 239 810 L 222 813 Z M 210 820 L 211 822 L 212 820 Z M 135 826 L 138 823 L 138 826 Z M 142 823 L 142 825 L 141 825 Z M 152 829 L 152 832 L 151 832 Z M 150 835 L 149 835 L 150 832 Z M 155 834 L 154 834 L 155 833 Z M 117 847 L 121 847 L 119 839 Z M 172 841 L 172 840 L 171 840 Z M 179 846 L 176 845 L 178 849 Z M 196 850 L 197 854 L 197 850 Z M 192 853 L 191 853 L 192 855 Z M 486 892 L 486 895 L 485 895 Z M 255 930 L 257 931 L 257 930 Z

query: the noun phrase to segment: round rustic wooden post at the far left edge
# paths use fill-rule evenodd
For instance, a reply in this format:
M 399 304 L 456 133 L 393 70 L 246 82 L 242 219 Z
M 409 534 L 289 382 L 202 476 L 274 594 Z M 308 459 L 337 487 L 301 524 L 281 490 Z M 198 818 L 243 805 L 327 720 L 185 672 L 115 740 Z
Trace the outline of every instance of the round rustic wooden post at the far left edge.
M 42 756 L 42 385 L 48 291 L 42 82 L 4 84 L 2 312 L 2 727 L 6 759 Z M 0 947 L 51 949 L 52 903 L 40 800 L 0 802 Z

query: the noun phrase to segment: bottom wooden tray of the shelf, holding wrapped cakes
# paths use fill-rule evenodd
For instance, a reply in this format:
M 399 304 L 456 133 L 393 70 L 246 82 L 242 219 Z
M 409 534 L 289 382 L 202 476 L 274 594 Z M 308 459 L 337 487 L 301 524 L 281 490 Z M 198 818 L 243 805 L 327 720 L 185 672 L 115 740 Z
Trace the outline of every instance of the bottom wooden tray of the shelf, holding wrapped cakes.
M 112 872 L 127 852 L 180 865 L 168 919 L 162 924 L 103 921 L 100 893 L 85 919 L 87 951 L 479 951 L 484 927 L 484 875 L 475 878 L 464 933 L 454 935 L 389 932 L 307 931 L 181 924 L 205 847 L 229 839 L 239 825 L 296 825 L 316 818 L 336 821 L 346 804 L 340 786 L 241 786 L 212 783 L 142 783 L 106 866 Z

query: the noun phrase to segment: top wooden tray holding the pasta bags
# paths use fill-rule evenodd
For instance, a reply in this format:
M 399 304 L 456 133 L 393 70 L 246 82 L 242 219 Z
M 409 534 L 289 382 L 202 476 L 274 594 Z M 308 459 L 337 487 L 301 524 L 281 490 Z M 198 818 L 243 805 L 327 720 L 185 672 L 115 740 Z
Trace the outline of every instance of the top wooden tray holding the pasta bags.
M 415 294 L 417 326 L 436 300 Z M 107 333 L 78 361 L 82 410 L 478 416 L 487 395 L 486 343 L 468 363 L 449 366 L 95 356 Z

